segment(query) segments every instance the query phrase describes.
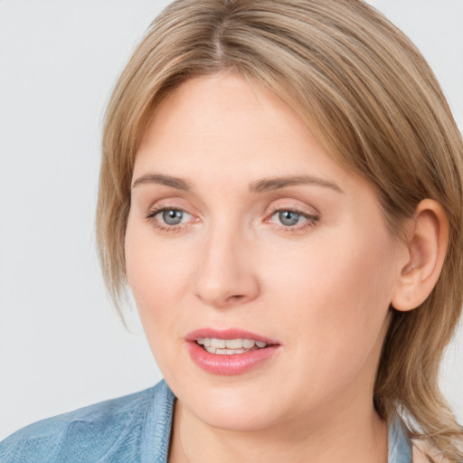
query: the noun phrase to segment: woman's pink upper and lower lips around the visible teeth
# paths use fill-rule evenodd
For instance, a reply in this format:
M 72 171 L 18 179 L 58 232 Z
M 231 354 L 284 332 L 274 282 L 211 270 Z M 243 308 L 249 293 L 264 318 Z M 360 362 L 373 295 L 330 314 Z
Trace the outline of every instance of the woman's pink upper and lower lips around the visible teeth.
M 244 354 L 210 354 L 201 345 L 196 343 L 198 337 L 216 337 L 218 339 L 254 339 L 267 343 L 267 347 Z M 209 373 L 231 376 L 250 371 L 266 360 L 269 360 L 280 350 L 281 345 L 278 341 L 269 339 L 249 331 L 241 329 L 216 330 L 212 328 L 202 328 L 195 330 L 185 336 L 186 347 L 195 364 Z

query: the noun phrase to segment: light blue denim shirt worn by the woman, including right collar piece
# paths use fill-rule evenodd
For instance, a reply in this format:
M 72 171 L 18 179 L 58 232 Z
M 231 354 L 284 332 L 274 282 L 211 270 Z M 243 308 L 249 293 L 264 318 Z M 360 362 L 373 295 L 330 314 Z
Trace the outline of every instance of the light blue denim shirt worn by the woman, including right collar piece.
M 164 381 L 146 391 L 38 421 L 0 443 L 0 463 L 166 463 L 175 396 Z M 410 463 L 399 421 L 389 463 Z

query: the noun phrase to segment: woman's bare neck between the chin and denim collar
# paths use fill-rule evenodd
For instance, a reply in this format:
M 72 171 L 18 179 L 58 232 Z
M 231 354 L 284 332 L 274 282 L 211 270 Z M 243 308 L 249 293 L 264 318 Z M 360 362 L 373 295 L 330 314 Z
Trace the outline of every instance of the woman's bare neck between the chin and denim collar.
M 387 425 L 373 404 L 344 410 L 332 405 L 323 420 L 291 419 L 264 430 L 236 431 L 209 426 L 177 401 L 169 463 L 387 463 Z

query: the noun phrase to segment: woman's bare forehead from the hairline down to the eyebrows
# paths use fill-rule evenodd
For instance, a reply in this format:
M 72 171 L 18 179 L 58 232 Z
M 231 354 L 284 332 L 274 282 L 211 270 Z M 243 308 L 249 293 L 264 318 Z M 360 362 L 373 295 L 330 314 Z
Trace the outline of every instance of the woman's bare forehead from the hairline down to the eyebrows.
M 183 175 L 202 165 L 224 180 L 243 175 L 245 166 L 256 176 L 296 175 L 307 168 L 311 175 L 329 169 L 352 176 L 288 103 L 231 72 L 187 80 L 165 97 L 138 148 L 134 175 L 160 165 Z

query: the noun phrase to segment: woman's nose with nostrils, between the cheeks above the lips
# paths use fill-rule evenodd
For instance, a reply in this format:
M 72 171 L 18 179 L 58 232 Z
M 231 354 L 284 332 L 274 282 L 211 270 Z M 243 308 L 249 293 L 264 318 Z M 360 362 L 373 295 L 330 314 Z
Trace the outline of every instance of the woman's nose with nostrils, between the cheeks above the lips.
M 244 304 L 260 294 L 252 262 L 253 250 L 239 231 L 211 231 L 195 274 L 197 298 L 213 307 Z

